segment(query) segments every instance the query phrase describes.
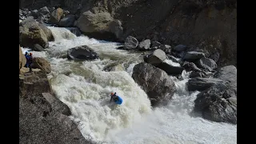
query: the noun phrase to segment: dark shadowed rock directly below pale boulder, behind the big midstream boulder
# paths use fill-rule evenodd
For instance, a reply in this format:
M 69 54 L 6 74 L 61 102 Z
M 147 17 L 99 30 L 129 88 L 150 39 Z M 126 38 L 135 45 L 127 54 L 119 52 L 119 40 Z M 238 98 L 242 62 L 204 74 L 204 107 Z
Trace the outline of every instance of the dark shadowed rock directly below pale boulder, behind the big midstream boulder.
M 182 71 L 184 70 L 184 68 L 181 66 L 171 66 L 166 62 L 162 62 L 158 64 L 158 66 L 156 67 L 158 67 L 161 70 L 164 70 L 167 74 L 170 74 L 170 75 L 182 74 Z

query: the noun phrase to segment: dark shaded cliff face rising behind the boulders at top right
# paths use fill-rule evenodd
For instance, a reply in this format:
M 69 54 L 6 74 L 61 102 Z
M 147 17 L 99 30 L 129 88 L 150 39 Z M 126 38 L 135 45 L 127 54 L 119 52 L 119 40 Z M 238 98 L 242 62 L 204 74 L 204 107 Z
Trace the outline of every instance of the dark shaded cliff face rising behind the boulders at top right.
M 175 46 L 183 44 L 220 54 L 219 66 L 237 61 L 236 0 L 21 0 L 31 10 L 59 4 L 80 14 L 109 12 L 122 22 L 123 37 L 150 38 Z

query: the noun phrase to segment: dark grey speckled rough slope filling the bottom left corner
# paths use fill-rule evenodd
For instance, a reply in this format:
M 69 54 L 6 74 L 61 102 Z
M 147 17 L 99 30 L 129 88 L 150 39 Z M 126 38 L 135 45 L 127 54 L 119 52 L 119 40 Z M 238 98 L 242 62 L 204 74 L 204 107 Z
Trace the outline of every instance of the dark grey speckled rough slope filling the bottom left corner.
M 42 96 L 36 100 L 19 97 L 20 143 L 89 143 L 74 121 L 43 102 Z

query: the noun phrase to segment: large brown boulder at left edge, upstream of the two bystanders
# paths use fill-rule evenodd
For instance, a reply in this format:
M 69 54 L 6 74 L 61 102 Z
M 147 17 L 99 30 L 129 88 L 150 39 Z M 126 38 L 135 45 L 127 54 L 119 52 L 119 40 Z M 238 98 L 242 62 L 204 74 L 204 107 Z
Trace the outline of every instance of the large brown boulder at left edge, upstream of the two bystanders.
M 21 46 L 32 47 L 34 44 L 39 44 L 43 48 L 49 46 L 46 33 L 34 19 L 28 18 L 22 21 L 19 26 L 19 31 Z

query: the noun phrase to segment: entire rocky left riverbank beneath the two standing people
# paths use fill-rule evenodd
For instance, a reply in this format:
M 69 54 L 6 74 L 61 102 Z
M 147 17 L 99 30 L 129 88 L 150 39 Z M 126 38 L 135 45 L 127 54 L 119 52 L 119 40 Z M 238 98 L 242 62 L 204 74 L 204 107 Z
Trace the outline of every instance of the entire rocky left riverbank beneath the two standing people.
M 46 73 L 50 64 L 34 58 L 33 72 L 25 68 L 26 58 L 20 50 L 19 74 L 19 142 L 20 143 L 93 143 L 78 130 L 78 123 L 68 116 L 68 106 L 54 96 Z

